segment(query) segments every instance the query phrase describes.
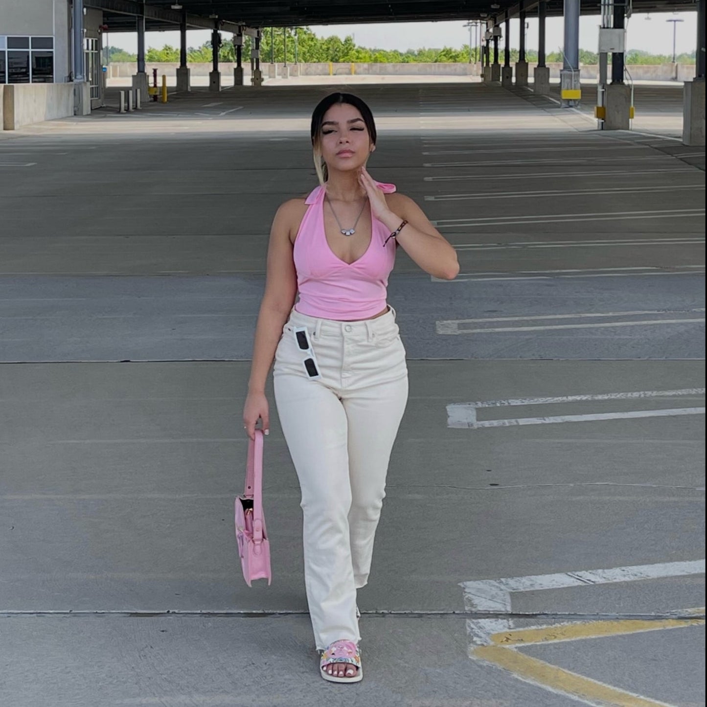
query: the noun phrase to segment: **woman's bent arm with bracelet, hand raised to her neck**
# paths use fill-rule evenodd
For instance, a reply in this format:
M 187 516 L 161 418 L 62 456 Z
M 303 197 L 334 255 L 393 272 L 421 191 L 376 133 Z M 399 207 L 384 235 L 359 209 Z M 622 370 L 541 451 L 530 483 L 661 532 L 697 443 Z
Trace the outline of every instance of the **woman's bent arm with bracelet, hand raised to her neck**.
M 422 209 L 403 194 L 389 194 L 386 198 L 372 177 L 361 170 L 362 184 L 366 187 L 370 208 L 378 221 L 397 230 L 402 221 L 407 226 L 397 235 L 397 242 L 424 271 L 442 280 L 453 280 L 459 274 L 457 252 L 449 241 L 430 223 Z M 388 243 L 388 247 L 392 242 Z

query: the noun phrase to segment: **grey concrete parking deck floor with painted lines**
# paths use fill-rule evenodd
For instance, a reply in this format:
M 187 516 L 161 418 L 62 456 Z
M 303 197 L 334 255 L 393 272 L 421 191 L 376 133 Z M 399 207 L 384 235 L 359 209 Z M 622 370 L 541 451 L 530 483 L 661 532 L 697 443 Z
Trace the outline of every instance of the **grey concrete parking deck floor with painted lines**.
M 8 705 L 703 705 L 704 150 L 670 111 L 609 134 L 527 91 L 356 86 L 371 173 L 462 264 L 435 281 L 401 250 L 390 280 L 411 395 L 358 597 L 363 682 L 317 675 L 271 388 L 274 580 L 243 582 L 267 233 L 315 185 L 330 88 L 0 133 Z

